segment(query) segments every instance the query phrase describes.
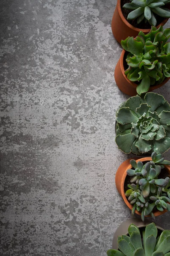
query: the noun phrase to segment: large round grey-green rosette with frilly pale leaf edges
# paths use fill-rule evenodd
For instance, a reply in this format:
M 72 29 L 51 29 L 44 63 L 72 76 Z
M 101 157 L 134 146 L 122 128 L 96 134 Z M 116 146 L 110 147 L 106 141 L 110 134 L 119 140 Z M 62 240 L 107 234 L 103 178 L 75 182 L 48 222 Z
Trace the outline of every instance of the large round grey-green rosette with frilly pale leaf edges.
M 127 99 L 116 122 L 116 144 L 125 154 L 163 154 L 170 148 L 170 105 L 157 93 Z

